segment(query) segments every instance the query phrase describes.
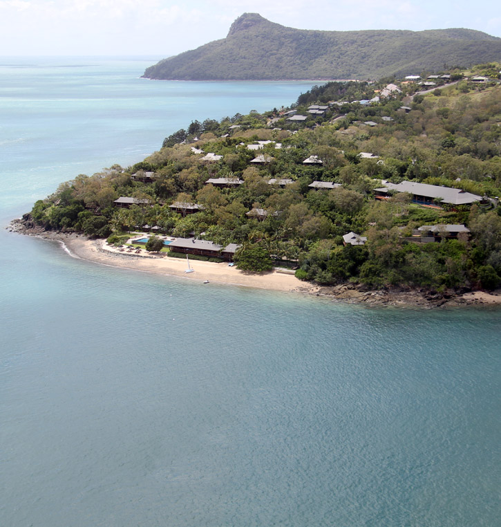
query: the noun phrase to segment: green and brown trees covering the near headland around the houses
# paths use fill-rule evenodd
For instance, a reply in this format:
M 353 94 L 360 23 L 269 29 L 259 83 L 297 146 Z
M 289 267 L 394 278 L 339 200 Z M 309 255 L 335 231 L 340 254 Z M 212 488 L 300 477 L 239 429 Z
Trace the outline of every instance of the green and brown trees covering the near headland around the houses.
M 499 68 L 484 64 L 474 71 Z M 386 82 L 316 86 L 294 105 L 307 116 L 303 122 L 287 120 L 287 109 L 191 122 L 133 167 L 115 165 L 62 184 L 35 203 L 26 221 L 118 240 L 145 224 L 175 237 L 194 233 L 222 246 L 241 244 L 236 259 L 243 267 L 293 266 L 297 277 L 318 284 L 495 288 L 501 277 L 501 85 L 462 80 L 411 100 L 417 86 L 401 84 L 407 93 L 365 105 L 355 100 L 381 93 Z M 308 113 L 308 104 L 326 97 L 332 100 L 323 114 Z M 259 147 L 258 140 L 267 142 Z M 222 157 L 203 160 L 205 153 Z M 266 161 L 256 165 L 259 154 Z M 305 164 L 310 156 L 321 163 Z M 153 173 L 150 180 L 144 171 Z M 218 188 L 209 178 L 243 184 Z M 482 199 L 423 207 L 410 194 L 390 192 L 378 200 L 382 180 L 455 187 Z M 339 186 L 312 189 L 313 181 Z M 120 196 L 138 204 L 117 208 Z M 201 207 L 183 214 L 172 203 Z M 431 243 L 411 239 L 413 230 L 437 224 L 466 225 L 471 232 L 449 239 L 441 230 Z M 349 232 L 366 243 L 343 245 Z

